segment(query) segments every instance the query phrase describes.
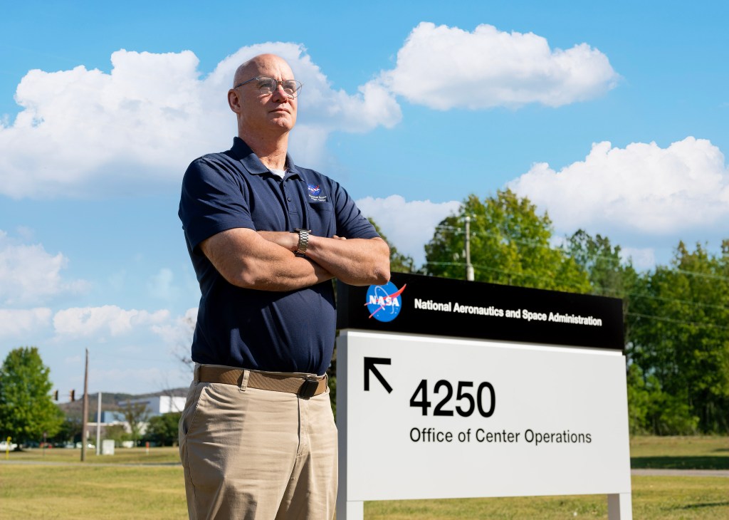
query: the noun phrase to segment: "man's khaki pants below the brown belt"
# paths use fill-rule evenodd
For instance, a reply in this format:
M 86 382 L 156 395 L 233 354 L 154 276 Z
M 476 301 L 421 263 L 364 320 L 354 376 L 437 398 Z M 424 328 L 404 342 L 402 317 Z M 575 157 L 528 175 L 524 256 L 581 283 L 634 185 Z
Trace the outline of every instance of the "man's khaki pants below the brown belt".
M 337 427 L 328 390 L 306 399 L 193 382 L 179 446 L 191 520 L 334 516 Z

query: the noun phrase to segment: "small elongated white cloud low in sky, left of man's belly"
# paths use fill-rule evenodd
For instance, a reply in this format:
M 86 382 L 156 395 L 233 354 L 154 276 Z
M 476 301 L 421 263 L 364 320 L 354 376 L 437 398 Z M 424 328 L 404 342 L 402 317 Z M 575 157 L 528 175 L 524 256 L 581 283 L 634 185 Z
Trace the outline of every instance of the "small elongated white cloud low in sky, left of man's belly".
M 140 327 L 153 327 L 169 319 L 169 311 L 125 310 L 115 305 L 73 307 L 53 317 L 57 335 L 104 338 L 132 333 Z

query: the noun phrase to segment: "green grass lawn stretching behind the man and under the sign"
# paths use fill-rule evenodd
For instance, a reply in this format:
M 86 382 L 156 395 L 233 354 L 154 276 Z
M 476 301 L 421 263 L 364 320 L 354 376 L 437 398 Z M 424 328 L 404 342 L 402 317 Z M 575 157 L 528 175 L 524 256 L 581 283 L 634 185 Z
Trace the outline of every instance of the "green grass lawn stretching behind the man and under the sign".
M 729 438 L 631 440 L 634 467 L 728 469 Z M 0 520 L 185 519 L 182 467 L 174 448 L 117 449 L 113 456 L 78 449 L 0 455 Z M 636 519 L 729 518 L 729 478 L 634 476 Z M 604 495 L 367 502 L 367 520 L 607 518 Z

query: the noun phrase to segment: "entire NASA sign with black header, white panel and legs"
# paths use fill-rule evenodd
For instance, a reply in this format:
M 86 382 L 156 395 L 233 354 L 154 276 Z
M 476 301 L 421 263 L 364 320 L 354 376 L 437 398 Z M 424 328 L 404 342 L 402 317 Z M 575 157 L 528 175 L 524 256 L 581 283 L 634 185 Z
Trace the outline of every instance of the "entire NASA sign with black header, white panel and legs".
M 631 518 L 620 300 L 378 287 L 338 294 L 338 519 L 366 500 L 556 494 L 607 494 L 609 518 Z

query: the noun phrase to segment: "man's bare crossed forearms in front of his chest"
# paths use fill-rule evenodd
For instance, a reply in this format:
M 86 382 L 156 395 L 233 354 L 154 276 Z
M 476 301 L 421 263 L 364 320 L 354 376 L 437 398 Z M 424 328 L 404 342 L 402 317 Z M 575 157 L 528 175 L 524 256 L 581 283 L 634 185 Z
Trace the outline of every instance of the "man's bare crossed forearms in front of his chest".
M 294 254 L 298 240 L 296 233 L 233 228 L 200 248 L 227 282 L 249 289 L 289 291 L 332 278 L 379 285 L 390 279 L 389 247 L 382 238 L 310 235 L 306 257 Z

